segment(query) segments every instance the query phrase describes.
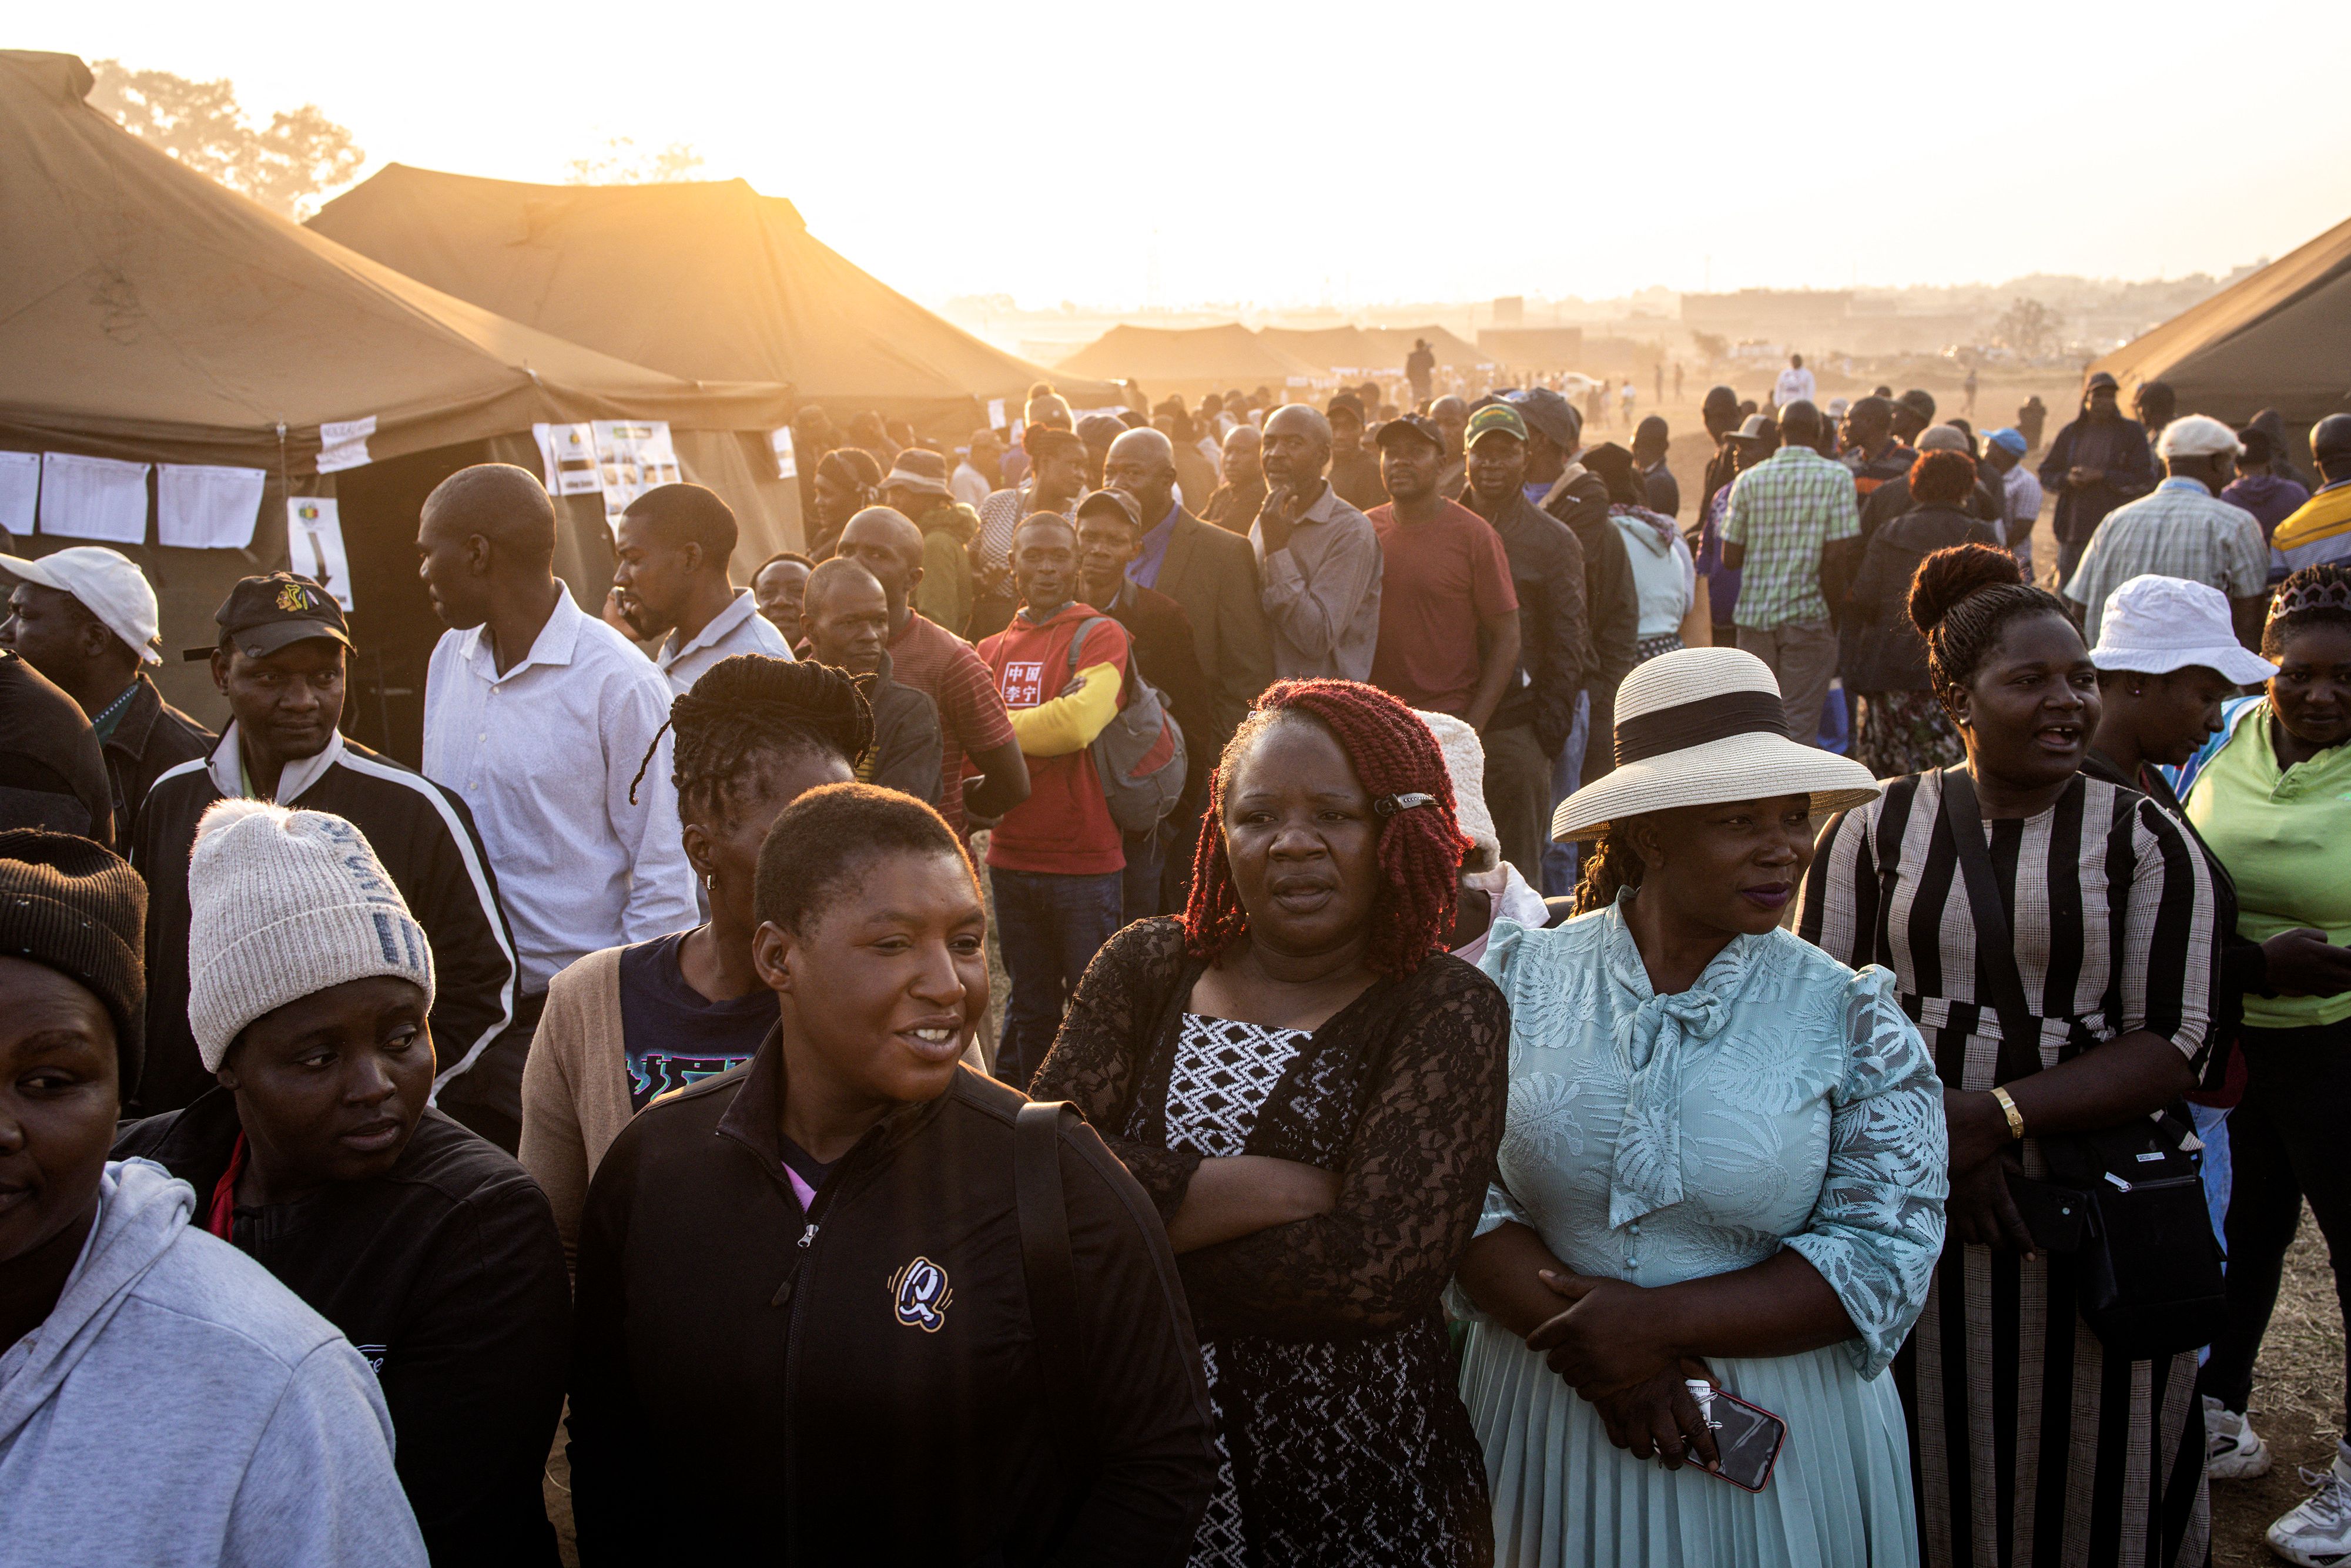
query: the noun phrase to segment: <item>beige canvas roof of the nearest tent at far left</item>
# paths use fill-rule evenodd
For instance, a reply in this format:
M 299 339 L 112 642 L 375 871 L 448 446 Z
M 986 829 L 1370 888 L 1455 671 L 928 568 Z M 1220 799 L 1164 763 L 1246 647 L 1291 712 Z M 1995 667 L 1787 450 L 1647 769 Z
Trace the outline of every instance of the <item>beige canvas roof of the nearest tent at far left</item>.
M 437 294 L 89 108 L 71 54 L 0 52 L 0 442 L 317 473 L 536 421 L 766 430 L 776 386 L 696 386 Z

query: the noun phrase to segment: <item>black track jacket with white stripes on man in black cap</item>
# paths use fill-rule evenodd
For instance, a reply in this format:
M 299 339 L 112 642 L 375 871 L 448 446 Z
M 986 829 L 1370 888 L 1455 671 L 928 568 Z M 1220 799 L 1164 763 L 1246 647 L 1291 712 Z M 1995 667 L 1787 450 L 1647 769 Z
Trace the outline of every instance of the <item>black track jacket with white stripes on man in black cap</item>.
M 158 778 L 139 813 L 132 865 L 148 879 L 146 1072 L 127 1117 L 179 1110 L 214 1084 L 188 1030 L 188 853 L 216 799 L 221 790 L 197 757 Z M 324 773 L 280 804 L 350 820 L 409 900 L 433 943 L 435 1084 L 447 1084 L 515 1018 L 515 938 L 473 813 L 456 792 L 350 738 Z

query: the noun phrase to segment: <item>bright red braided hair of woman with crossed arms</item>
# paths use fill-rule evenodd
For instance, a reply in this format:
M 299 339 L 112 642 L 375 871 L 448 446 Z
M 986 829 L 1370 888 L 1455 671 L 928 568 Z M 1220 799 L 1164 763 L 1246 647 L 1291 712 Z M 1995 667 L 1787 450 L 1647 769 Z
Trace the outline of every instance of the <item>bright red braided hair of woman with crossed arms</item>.
M 1429 726 L 1378 686 L 1345 679 L 1274 682 L 1225 745 L 1199 823 L 1199 870 L 1183 912 L 1185 947 L 1215 961 L 1248 933 L 1248 910 L 1225 856 L 1225 792 L 1265 731 L 1298 722 L 1319 724 L 1338 741 L 1380 811 L 1380 889 L 1371 903 L 1364 961 L 1373 973 L 1408 976 L 1441 952 L 1453 931 L 1460 865 L 1472 844 L 1455 818 L 1453 778 Z M 1436 804 L 1396 809 L 1392 799 L 1399 795 L 1429 795 Z M 1380 802 L 1389 804 L 1382 809 Z

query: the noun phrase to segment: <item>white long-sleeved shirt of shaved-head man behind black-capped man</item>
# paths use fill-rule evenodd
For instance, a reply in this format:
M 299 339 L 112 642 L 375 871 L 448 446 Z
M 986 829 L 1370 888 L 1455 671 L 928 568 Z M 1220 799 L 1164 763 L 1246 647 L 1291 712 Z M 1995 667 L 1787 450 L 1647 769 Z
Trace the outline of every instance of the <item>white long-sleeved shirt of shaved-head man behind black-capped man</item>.
M 487 628 L 442 632 L 426 672 L 426 778 L 456 790 L 498 875 L 522 990 L 574 959 L 701 919 L 679 842 L 670 682 L 621 632 L 555 599 L 498 675 Z M 644 764 L 637 802 L 630 780 Z

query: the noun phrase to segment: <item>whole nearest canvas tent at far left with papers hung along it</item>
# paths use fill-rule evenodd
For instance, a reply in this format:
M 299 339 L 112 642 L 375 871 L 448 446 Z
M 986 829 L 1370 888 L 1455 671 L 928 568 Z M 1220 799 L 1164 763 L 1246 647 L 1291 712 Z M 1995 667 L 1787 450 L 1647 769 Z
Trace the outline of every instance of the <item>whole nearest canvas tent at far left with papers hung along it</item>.
M 736 505 L 745 552 L 797 541 L 766 437 L 792 414 L 783 388 L 696 386 L 449 299 L 139 141 L 85 101 L 89 85 L 71 54 L 0 52 L 0 505 L 12 531 L 40 520 L 14 541 L 26 555 L 103 538 L 146 567 L 172 701 L 219 715 L 179 651 L 214 642 L 235 578 L 315 571 L 324 555 L 289 552 L 287 501 L 334 501 L 360 642 L 348 722 L 414 755 L 440 635 L 416 505 L 470 461 L 541 470 L 541 423 L 665 421 L 684 477 Z M 249 536 L 165 543 L 186 494 L 235 494 Z M 557 564 L 595 607 L 611 581 L 602 494 L 567 496 L 562 517 Z

